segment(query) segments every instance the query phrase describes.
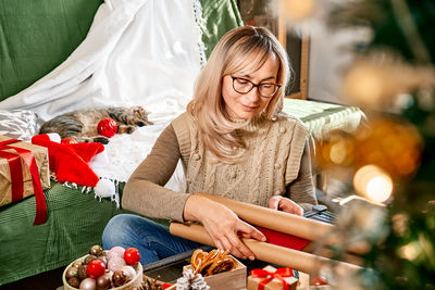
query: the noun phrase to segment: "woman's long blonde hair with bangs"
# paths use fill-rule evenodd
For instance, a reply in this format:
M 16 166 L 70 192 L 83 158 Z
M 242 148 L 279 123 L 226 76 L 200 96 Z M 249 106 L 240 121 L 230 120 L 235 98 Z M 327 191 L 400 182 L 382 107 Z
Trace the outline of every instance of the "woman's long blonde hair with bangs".
M 260 113 L 261 117 L 272 119 L 283 109 L 285 88 L 289 80 L 289 62 L 286 51 L 268 29 L 241 26 L 229 30 L 219 40 L 199 74 L 187 112 L 196 119 L 206 148 L 221 162 L 233 163 L 238 159 L 235 149 L 243 148 L 244 143 L 237 137 L 236 129 L 250 122 L 234 122 L 229 117 L 222 97 L 223 77 L 241 71 L 253 73 L 272 54 L 279 61 L 276 81 L 282 87 Z

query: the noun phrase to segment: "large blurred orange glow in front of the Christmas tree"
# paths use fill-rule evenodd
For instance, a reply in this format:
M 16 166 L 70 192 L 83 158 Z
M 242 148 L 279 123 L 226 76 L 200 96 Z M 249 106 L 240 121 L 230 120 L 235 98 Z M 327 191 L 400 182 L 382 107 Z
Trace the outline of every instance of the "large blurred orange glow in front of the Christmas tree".
M 421 164 L 423 142 L 417 128 L 395 117 L 372 116 L 357 133 L 332 131 L 318 141 L 315 159 L 321 168 L 352 167 L 372 164 L 395 181 L 408 180 Z M 374 179 L 371 188 L 387 187 Z M 366 190 L 364 190 L 365 192 Z

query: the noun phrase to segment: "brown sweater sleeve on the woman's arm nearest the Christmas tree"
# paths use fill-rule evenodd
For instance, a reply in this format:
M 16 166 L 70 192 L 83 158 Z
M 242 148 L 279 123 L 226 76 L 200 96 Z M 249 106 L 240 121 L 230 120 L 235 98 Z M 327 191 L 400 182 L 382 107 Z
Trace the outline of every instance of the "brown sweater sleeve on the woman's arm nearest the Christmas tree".
M 308 141 L 303 147 L 298 177 L 287 185 L 286 196 L 302 206 L 303 211 L 311 211 L 312 205 L 318 204 L 311 174 L 311 156 Z

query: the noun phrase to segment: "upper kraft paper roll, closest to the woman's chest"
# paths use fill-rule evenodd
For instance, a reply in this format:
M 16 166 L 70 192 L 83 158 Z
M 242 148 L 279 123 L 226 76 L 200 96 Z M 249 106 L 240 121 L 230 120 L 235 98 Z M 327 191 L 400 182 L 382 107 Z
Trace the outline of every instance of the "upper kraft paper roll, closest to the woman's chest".
M 340 243 L 337 238 L 331 235 L 335 229 L 335 226 L 331 224 L 208 193 L 198 192 L 195 196 L 222 203 L 235 212 L 239 218 L 254 226 L 269 228 L 310 241 L 322 240 L 328 245 Z M 358 254 L 366 252 L 364 244 L 351 245 L 347 250 Z

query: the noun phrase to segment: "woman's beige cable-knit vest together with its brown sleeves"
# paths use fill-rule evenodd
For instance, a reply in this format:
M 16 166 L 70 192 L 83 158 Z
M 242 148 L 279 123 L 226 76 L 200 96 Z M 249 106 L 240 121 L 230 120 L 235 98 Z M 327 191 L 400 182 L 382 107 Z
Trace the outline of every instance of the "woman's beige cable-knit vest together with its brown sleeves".
M 239 131 L 246 143 L 239 163 L 211 162 L 212 155 L 199 138 L 188 113 L 172 122 L 160 135 L 147 159 L 127 181 L 123 207 L 138 214 L 183 222 L 189 194 L 207 192 L 268 206 L 275 194 L 283 194 L 304 210 L 316 204 L 311 175 L 307 128 L 294 117 L 254 119 Z M 186 192 L 163 186 L 182 160 Z

